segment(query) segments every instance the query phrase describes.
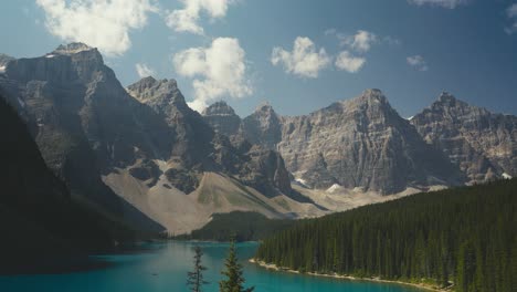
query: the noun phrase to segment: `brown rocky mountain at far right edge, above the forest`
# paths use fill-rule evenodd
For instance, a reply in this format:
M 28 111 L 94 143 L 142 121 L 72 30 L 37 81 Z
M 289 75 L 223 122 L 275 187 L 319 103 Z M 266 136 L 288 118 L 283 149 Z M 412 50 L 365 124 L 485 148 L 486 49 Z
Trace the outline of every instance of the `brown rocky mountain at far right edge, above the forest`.
M 517 175 L 517 117 L 493 114 L 443 93 L 411 119 L 426 143 L 442 149 L 471 184 Z

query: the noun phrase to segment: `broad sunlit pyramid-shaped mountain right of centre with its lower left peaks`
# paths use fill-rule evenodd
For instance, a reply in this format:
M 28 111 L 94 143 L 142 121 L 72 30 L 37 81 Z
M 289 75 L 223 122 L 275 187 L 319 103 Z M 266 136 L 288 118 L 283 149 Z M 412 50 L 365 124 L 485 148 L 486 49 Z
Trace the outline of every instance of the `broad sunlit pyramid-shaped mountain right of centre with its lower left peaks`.
M 389 195 L 462 181 L 379 90 L 303 116 L 279 116 L 262 105 L 242 119 L 241 128 L 233 135 L 277 149 L 287 169 L 312 188 L 339 185 Z

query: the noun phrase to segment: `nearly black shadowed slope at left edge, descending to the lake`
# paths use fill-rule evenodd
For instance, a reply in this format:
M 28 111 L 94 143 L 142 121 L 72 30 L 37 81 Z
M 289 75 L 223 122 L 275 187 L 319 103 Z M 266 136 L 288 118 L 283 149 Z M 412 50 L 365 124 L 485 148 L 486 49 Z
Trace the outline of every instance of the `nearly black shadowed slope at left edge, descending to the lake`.
M 0 131 L 0 273 L 34 271 L 43 260 L 56 263 L 60 257 L 105 251 L 123 240 L 109 231 L 106 218 L 73 202 L 1 96 Z

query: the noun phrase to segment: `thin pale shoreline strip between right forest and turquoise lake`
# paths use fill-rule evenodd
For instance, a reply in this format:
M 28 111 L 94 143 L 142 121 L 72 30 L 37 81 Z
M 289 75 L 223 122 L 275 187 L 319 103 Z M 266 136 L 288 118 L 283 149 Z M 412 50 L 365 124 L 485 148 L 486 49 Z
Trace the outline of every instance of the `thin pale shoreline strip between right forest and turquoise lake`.
M 410 285 L 414 286 L 418 289 L 422 290 L 428 290 L 428 291 L 435 291 L 435 292 L 446 292 L 450 290 L 443 290 L 443 289 L 437 289 L 428 284 L 419 284 L 419 283 L 410 283 L 410 282 L 402 282 L 402 281 L 394 281 L 394 280 L 382 280 L 378 278 L 357 278 L 352 275 L 340 275 L 340 274 L 320 274 L 320 273 L 314 273 L 314 272 L 307 272 L 307 273 L 300 273 L 299 271 L 287 269 L 287 268 L 282 268 L 277 267 L 274 263 L 266 263 L 264 261 L 257 261 L 255 259 L 250 259 L 249 262 L 256 264 L 258 267 L 262 267 L 266 270 L 274 270 L 274 271 L 281 271 L 281 272 L 288 272 L 288 273 L 296 273 L 296 274 L 307 274 L 307 275 L 313 275 L 313 277 L 325 277 L 325 278 L 333 278 L 333 279 L 342 279 L 342 280 L 350 280 L 350 281 L 369 281 L 369 282 L 377 282 L 377 283 L 390 283 L 390 284 L 401 284 L 401 285 Z

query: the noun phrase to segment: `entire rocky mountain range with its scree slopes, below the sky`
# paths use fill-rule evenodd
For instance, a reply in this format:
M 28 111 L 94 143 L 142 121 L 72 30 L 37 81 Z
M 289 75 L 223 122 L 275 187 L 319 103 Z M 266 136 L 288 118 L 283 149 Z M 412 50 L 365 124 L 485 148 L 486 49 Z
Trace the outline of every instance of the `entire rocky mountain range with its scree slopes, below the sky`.
M 517 175 L 517 117 L 443 94 L 411 121 L 379 90 L 303 116 L 268 104 L 199 114 L 173 80 L 124 88 L 96 49 L 0 58 L 0 90 L 80 201 L 140 230 L 183 233 L 214 212 L 313 217 Z

